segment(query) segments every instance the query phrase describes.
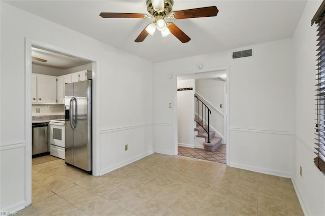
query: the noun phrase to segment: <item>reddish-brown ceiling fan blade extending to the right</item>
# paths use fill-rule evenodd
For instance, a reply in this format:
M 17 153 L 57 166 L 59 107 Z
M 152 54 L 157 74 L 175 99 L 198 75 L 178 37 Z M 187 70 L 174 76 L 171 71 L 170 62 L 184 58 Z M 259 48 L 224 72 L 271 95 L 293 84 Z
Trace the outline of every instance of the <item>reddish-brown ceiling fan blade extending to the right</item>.
M 175 19 L 187 19 L 197 17 L 214 17 L 217 16 L 219 10 L 215 6 L 205 8 L 193 8 L 182 11 L 174 11 L 172 14 Z

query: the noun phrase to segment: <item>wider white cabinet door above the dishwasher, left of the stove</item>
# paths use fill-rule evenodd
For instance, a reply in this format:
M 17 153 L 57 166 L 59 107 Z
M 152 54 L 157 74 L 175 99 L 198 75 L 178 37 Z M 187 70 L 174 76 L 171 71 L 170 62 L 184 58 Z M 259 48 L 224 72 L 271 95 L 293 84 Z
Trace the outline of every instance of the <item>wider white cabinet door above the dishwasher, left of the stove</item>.
M 37 75 L 37 102 L 56 103 L 56 77 Z

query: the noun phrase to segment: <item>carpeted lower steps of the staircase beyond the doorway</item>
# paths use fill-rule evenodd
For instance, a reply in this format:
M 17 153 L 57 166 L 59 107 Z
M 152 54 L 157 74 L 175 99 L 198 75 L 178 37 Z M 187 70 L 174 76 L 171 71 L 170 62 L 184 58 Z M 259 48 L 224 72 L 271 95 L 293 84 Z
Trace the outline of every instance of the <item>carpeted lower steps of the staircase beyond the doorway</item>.
M 206 125 L 203 125 L 206 127 Z M 203 137 L 205 138 L 205 141 L 203 142 L 203 147 L 205 151 L 212 152 L 218 148 L 221 144 L 222 138 L 219 136 L 215 136 L 215 132 L 212 130 L 209 130 L 210 136 L 208 137 L 208 133 L 205 131 L 205 129 L 197 122 L 197 127 L 194 128 L 194 131 L 198 131 L 197 137 Z M 210 139 L 210 143 L 208 142 Z

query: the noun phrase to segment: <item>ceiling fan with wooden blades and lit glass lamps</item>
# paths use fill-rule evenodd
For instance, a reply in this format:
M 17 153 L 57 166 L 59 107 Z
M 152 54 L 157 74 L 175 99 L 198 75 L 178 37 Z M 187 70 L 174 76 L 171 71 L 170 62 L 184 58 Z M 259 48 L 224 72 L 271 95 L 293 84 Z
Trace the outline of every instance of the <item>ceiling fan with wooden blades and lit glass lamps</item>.
M 191 39 L 174 23 L 165 21 L 165 18 L 172 19 L 187 19 L 198 17 L 212 17 L 218 14 L 216 6 L 194 8 L 181 11 L 173 11 L 173 0 L 147 0 L 147 14 L 136 13 L 101 13 L 102 18 L 154 18 L 155 20 L 148 24 L 142 32 L 139 34 L 135 42 L 143 42 L 148 34 L 153 35 L 156 29 L 161 32 L 161 35 L 165 38 L 172 33 L 182 43 L 187 43 Z

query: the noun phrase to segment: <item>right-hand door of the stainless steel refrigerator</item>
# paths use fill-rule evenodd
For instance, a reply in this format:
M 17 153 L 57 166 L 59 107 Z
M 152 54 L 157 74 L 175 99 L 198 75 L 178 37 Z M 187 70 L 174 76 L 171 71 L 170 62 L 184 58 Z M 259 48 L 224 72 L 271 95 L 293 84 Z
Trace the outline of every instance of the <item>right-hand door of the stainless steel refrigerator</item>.
M 76 98 L 74 165 L 86 171 L 91 171 L 92 168 L 91 82 L 91 80 L 79 81 L 74 86 Z

